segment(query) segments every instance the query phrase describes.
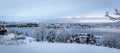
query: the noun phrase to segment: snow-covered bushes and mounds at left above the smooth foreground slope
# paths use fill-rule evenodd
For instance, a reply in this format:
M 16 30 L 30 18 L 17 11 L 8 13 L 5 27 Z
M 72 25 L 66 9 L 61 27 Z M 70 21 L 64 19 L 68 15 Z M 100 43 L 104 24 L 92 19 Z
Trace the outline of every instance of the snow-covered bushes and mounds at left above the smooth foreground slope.
M 21 45 L 21 44 L 27 44 L 30 42 L 34 42 L 34 38 L 26 37 L 25 39 L 16 40 L 16 36 L 17 35 L 14 33 L 3 35 L 0 38 L 0 44 L 1 45 Z M 19 35 L 18 37 L 22 37 L 22 36 L 23 35 Z

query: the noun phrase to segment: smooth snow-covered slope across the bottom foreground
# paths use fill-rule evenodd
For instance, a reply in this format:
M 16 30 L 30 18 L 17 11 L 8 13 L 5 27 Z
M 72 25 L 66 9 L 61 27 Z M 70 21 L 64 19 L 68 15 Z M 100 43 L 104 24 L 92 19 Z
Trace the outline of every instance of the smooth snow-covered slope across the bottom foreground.
M 120 53 L 120 50 L 83 44 L 32 42 L 19 46 L 0 45 L 0 53 Z

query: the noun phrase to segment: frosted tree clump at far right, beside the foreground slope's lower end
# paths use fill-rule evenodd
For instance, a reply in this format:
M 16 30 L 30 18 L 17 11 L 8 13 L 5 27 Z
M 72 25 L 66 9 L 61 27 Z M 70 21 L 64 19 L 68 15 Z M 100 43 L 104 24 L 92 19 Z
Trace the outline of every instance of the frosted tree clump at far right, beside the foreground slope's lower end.
M 115 35 L 104 35 L 103 36 L 103 40 L 102 40 L 102 44 L 103 46 L 106 47 L 111 47 L 111 48 L 120 48 L 120 36 L 115 36 Z

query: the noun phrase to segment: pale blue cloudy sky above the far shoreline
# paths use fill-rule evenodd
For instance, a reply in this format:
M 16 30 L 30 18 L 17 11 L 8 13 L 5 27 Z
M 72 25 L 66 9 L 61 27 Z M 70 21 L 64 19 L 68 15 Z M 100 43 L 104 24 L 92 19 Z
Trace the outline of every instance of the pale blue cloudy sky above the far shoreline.
M 68 18 L 73 22 L 110 22 L 105 11 L 120 9 L 120 0 L 0 0 L 0 19 L 39 21 Z M 73 19 L 75 18 L 75 19 Z M 85 19 L 83 19 L 85 18 Z

